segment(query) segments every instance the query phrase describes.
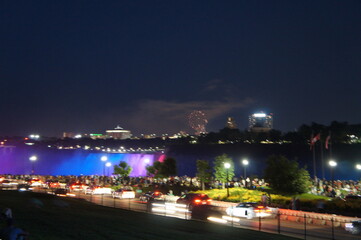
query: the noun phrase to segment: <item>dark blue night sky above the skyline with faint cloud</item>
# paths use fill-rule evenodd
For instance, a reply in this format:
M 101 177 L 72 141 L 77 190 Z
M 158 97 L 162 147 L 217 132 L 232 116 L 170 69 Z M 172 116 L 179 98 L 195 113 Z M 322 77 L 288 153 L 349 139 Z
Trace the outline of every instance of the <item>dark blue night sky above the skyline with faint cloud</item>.
M 361 1 L 0 1 L 0 135 L 361 123 Z

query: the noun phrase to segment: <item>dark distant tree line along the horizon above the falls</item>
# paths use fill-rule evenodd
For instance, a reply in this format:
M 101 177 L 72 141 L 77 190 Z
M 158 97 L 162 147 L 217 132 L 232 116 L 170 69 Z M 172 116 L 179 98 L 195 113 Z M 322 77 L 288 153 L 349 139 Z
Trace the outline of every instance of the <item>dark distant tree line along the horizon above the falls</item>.
M 153 139 L 47 139 L 40 141 L 39 144 L 44 146 L 75 146 L 87 145 L 90 148 L 99 145 L 117 148 L 120 145 L 125 148 L 165 148 L 170 145 L 187 145 L 187 144 L 218 144 L 223 143 L 262 143 L 269 142 L 283 142 L 294 144 L 309 144 L 311 135 L 320 134 L 321 141 L 324 142 L 328 136 L 331 138 L 332 144 L 344 143 L 361 143 L 361 124 L 349 124 L 347 122 L 333 121 L 329 125 L 323 125 L 312 122 L 311 124 L 303 124 L 294 131 L 281 132 L 272 129 L 268 132 L 252 132 L 248 129 L 231 129 L 223 128 L 218 132 L 209 132 L 201 136 L 183 136 L 176 139 L 168 137 L 156 137 Z M 196 141 L 195 141 L 196 140 Z

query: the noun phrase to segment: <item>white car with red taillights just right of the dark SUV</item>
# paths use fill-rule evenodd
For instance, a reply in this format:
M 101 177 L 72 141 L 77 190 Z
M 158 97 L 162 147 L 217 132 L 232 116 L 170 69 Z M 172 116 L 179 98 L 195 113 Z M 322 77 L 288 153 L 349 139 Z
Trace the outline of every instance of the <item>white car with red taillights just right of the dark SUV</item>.
M 270 208 L 255 202 L 239 203 L 236 206 L 228 207 L 226 212 L 229 216 L 245 217 L 247 219 L 272 216 Z

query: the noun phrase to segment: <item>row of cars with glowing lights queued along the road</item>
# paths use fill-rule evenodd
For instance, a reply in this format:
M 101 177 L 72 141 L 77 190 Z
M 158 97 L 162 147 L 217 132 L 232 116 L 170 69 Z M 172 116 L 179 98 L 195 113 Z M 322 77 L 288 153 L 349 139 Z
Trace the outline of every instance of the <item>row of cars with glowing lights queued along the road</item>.
M 31 191 L 34 186 L 43 186 L 41 181 L 38 179 L 31 179 L 26 183 L 19 183 L 7 179 L 0 179 L 0 184 L 2 186 L 15 187 L 19 191 Z M 70 185 L 69 189 L 66 189 L 64 185 L 54 183 L 53 187 L 55 188 L 54 194 L 58 196 L 68 196 L 69 191 L 81 191 L 85 194 L 107 194 L 111 195 L 113 198 L 119 199 L 135 198 L 135 192 L 131 187 L 125 187 L 115 191 L 107 187 L 89 187 L 85 184 L 72 184 Z M 142 194 L 139 200 L 144 203 L 165 202 L 166 197 L 167 195 L 156 191 Z M 346 197 L 347 200 L 359 200 L 360 198 L 361 196 L 359 195 L 349 195 Z M 198 218 L 201 218 L 202 216 L 206 216 L 207 214 L 209 215 L 209 213 L 217 212 L 212 207 L 212 199 L 209 198 L 206 194 L 183 194 L 175 201 L 175 203 L 179 205 L 184 205 L 186 208 L 188 208 L 188 210 L 192 211 L 192 216 L 195 216 L 196 218 L 197 216 Z M 271 208 L 255 202 L 239 203 L 235 206 L 228 207 L 225 212 L 230 217 L 240 217 L 246 219 L 253 219 L 258 217 L 264 218 L 273 215 Z M 361 234 L 361 221 L 358 220 L 347 223 L 345 228 L 347 231 L 353 234 Z

